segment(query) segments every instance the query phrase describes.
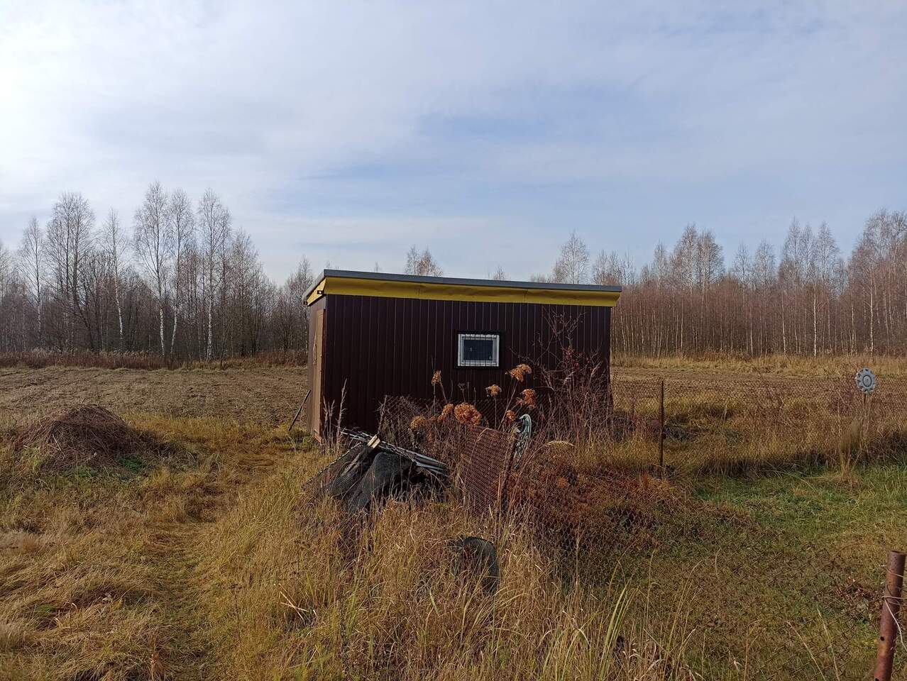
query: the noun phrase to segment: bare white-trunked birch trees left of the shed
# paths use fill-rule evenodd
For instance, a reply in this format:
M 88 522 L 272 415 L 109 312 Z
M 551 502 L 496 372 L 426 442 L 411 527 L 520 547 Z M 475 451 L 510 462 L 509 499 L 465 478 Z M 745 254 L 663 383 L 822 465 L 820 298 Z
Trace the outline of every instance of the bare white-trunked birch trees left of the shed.
M 48 349 L 217 359 L 305 350 L 302 258 L 282 285 L 212 190 L 193 201 L 152 182 L 132 215 L 98 219 L 63 193 L 18 248 L 0 243 L 0 351 Z

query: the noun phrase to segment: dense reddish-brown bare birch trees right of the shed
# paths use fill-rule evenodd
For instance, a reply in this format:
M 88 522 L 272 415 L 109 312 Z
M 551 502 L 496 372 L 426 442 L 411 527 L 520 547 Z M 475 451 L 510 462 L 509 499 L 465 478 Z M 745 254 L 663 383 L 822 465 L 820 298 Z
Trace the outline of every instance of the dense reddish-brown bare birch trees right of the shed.
M 763 240 L 726 260 L 695 224 L 637 268 L 575 233 L 535 280 L 619 284 L 611 346 L 629 355 L 830 355 L 907 352 L 907 212 L 866 220 L 849 256 L 828 226 L 794 220 L 780 248 Z

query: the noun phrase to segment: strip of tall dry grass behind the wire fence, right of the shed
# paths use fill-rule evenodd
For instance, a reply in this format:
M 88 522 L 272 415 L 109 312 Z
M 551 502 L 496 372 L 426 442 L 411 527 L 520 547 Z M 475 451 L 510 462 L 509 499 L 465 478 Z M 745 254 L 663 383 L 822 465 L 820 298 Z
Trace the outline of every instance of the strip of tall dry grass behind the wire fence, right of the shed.
M 680 392 L 665 400 L 665 465 L 681 478 L 740 476 L 907 459 L 907 412 L 894 395 L 846 404 L 819 395 Z M 722 392 L 724 390 L 724 392 Z M 614 429 L 584 443 L 591 462 L 642 472 L 658 465 L 658 398 L 616 400 Z M 855 393 L 855 391 L 854 391 Z M 907 394 L 904 395 L 907 398 Z

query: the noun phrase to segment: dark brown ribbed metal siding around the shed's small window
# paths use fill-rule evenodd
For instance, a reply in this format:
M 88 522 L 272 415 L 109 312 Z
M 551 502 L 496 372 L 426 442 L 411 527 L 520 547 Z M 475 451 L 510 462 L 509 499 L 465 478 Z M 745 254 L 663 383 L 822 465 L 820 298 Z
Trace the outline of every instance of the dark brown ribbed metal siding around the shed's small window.
M 568 339 L 575 352 L 606 368 L 610 361 L 610 307 L 327 295 L 313 315 L 319 305 L 327 305 L 324 399 L 335 404 L 336 415 L 343 394 L 344 423 L 370 431 L 385 395 L 431 398 L 436 370 L 448 399 L 460 402 L 483 397 L 491 384 L 508 391 L 506 372 L 522 362 L 557 366 L 561 343 L 551 316 L 575 323 Z M 459 332 L 501 334 L 500 367 L 457 367 Z M 537 379 L 532 375 L 521 387 Z

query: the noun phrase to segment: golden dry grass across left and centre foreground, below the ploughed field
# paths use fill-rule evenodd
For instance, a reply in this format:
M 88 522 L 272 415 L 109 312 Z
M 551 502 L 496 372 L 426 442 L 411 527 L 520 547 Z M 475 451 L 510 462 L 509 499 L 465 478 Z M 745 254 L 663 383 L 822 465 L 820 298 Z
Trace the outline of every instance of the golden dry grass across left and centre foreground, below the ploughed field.
M 305 441 L 131 423 L 197 462 L 0 476 L 0 677 L 692 678 L 682 613 L 642 618 L 645 589 L 579 579 L 525 519 L 476 520 L 454 497 L 350 519 L 304 490 L 323 462 Z M 464 534 L 496 541 L 496 594 L 454 569 Z

